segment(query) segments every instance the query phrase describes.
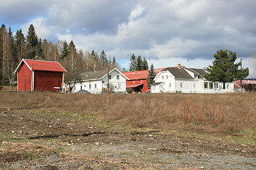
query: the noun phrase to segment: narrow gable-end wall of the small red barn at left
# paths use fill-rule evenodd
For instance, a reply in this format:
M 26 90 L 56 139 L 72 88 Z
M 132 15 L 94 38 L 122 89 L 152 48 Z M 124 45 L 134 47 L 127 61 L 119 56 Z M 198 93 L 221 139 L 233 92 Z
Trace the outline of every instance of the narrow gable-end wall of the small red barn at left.
M 23 64 L 18 71 L 18 91 L 31 91 L 31 70 Z

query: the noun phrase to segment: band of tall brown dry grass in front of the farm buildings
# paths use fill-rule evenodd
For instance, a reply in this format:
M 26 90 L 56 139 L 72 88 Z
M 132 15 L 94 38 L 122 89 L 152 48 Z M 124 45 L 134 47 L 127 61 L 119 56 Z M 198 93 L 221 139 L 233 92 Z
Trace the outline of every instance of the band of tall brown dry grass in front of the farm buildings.
M 256 128 L 256 95 L 0 93 L 1 107 L 44 107 L 49 111 L 97 115 L 138 127 L 196 132 Z

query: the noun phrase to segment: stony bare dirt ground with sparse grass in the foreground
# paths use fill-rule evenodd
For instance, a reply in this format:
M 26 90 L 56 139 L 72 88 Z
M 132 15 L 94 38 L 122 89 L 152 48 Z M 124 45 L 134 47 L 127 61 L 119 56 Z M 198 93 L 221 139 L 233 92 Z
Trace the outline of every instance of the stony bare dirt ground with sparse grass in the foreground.
M 5 101 L 0 110 L 0 169 L 256 169 L 255 130 L 138 127 Z

